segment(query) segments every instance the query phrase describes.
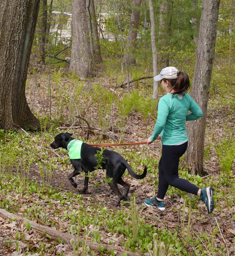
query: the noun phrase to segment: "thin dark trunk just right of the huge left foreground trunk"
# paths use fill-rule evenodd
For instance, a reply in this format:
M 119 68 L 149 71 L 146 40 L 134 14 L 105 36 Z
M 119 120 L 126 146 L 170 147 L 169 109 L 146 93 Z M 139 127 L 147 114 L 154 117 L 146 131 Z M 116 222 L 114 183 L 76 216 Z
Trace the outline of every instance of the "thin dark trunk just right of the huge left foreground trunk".
M 42 0 L 42 17 L 40 24 L 39 52 L 41 64 L 45 64 L 45 42 L 47 35 L 47 0 Z

